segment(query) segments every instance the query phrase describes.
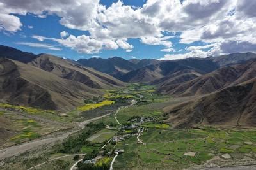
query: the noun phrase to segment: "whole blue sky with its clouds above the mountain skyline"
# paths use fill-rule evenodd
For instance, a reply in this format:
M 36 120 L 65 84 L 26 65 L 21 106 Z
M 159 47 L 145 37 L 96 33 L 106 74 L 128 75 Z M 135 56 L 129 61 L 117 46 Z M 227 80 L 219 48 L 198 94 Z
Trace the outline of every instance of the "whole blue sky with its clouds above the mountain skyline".
M 255 13 L 245 6 L 255 6 L 252 1 L 48 1 L 3 0 L 0 43 L 74 60 L 184 59 L 255 50 Z

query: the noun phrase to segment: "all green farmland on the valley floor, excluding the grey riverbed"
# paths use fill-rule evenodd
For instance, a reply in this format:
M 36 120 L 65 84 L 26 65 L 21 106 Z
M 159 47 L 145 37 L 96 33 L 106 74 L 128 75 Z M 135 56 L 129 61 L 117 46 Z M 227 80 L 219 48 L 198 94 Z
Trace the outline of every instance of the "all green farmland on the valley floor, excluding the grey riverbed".
M 24 154 L 19 160 L 13 159 L 11 162 L 17 160 L 17 163 L 12 164 L 20 166 L 20 159 L 23 158 L 26 160 L 24 167 L 28 168 L 50 159 L 52 155 L 97 153 L 99 159 L 95 167 L 109 166 L 115 150 L 124 150 L 124 153 L 118 154 L 113 169 L 200 169 L 209 167 L 209 164 L 224 167 L 256 164 L 256 129 L 220 125 L 173 129 L 172 122 L 163 123 L 166 120 L 165 108 L 189 98 L 161 96 L 155 94 L 154 90 L 154 86 L 141 84 L 106 90 L 104 96 L 97 99 L 99 101 L 90 101 L 92 103 L 86 103 L 65 115 L 55 111 L 2 105 L 10 110 L 1 110 L 0 118 L 12 120 L 13 131 L 19 129 L 6 139 L 9 145 L 42 138 L 45 133 L 61 130 L 63 124 L 67 125 L 66 128 L 72 127 L 72 121 L 79 123 L 108 114 L 44 150 L 44 159 L 26 160 Z M 136 100 L 136 103 L 130 106 L 132 100 Z M 121 109 L 116 113 L 118 108 Z M 15 117 L 13 109 L 22 111 Z M 44 122 L 47 117 L 48 122 Z M 135 128 L 132 129 L 131 125 L 135 125 Z M 116 138 L 120 140 L 113 141 Z M 54 160 L 40 168 L 60 167 L 58 164 L 68 169 L 74 160 L 72 157 Z M 10 167 L 10 164 L 5 167 Z

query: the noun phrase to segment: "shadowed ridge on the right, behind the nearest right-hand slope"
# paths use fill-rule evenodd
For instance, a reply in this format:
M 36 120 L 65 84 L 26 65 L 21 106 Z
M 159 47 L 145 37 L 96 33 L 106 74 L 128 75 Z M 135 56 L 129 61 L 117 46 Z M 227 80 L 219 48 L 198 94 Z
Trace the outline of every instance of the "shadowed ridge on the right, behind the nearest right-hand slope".
M 178 87 L 160 87 L 159 92 L 175 96 L 203 95 L 237 85 L 256 76 L 256 61 L 250 60 L 244 64 L 227 66 L 205 74 L 194 80 L 182 83 Z

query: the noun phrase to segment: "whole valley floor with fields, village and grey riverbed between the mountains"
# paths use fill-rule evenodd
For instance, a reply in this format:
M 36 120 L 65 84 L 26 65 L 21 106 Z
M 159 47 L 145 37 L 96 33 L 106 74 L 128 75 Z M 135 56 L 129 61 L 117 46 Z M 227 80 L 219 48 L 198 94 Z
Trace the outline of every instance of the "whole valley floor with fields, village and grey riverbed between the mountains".
M 43 111 L 42 118 L 58 122 L 54 124 L 57 127 L 65 124 L 66 128 L 48 137 L 40 129 L 47 127 L 49 122 L 36 117 L 22 117 L 26 124 L 22 122 L 20 127 L 27 127 L 29 132 L 40 136 L 30 138 L 29 132 L 18 131 L 18 126 L 12 129 L 15 132 L 13 136 L 6 136 L 1 142 L 5 146 L 15 145 L 0 150 L 0 168 L 109 169 L 111 166 L 113 169 L 216 169 L 244 165 L 254 168 L 255 128 L 198 125 L 191 129 L 172 129 L 172 122 L 163 122 L 166 119 L 164 107 L 186 100 L 188 98 L 157 95 L 154 87 L 140 84 L 108 90 L 104 99 L 97 101 L 100 104 L 93 104 L 93 107 L 99 107 L 93 109 L 88 109 L 91 105 L 87 103 L 65 117 L 56 116 L 56 113 L 49 117 L 51 113 Z M 108 102 L 103 104 L 103 101 Z M 4 112 L 0 117 L 18 124 L 17 118 L 8 114 L 13 111 L 20 113 L 20 110 L 8 107 L 2 107 Z M 28 115 L 39 117 L 40 113 Z M 32 120 L 40 126 L 31 124 Z M 10 125 L 4 128 L 10 129 Z M 22 147 L 27 149 L 20 152 Z

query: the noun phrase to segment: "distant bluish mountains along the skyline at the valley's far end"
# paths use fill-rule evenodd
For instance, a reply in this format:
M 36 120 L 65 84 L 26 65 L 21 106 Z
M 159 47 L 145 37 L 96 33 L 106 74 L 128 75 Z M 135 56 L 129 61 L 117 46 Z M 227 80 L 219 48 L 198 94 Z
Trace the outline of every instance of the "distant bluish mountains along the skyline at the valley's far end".
M 186 76 L 186 80 L 191 80 L 195 74 L 210 73 L 220 67 L 243 63 L 255 58 L 255 53 L 232 53 L 230 55 L 221 55 L 220 57 L 188 58 L 172 61 L 156 59 L 125 60 L 121 57 L 112 57 L 109 59 L 79 59 L 77 62 L 83 66 L 92 67 L 97 71 L 110 74 L 124 82 L 156 85 L 156 83 L 164 83 L 166 76 L 172 77 L 173 73 L 184 71 L 184 69 L 187 70 L 187 73 L 189 71 L 193 73 L 191 78 Z

